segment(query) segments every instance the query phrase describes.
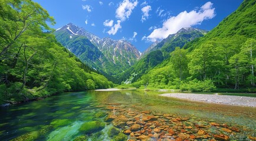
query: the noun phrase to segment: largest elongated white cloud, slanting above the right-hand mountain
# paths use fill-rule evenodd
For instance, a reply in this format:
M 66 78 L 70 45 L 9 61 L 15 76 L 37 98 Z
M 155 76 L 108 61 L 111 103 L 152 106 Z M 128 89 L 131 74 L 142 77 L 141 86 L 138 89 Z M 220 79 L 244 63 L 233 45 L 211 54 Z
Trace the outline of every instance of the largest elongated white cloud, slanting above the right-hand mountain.
M 167 38 L 168 35 L 176 33 L 181 28 L 200 25 L 204 20 L 212 19 L 215 16 L 215 8 L 213 8 L 212 5 L 212 2 L 206 2 L 198 11 L 183 11 L 177 16 L 171 16 L 164 21 L 162 28 L 154 29 L 154 31 L 147 36 L 147 40 L 155 42 L 158 39 Z

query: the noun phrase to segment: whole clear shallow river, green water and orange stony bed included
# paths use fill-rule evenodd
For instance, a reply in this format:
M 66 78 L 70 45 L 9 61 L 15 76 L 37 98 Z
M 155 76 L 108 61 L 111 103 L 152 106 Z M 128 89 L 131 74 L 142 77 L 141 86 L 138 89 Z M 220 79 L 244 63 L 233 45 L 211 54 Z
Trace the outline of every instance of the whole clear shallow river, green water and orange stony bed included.
M 0 109 L 0 140 L 256 140 L 256 108 L 70 92 Z

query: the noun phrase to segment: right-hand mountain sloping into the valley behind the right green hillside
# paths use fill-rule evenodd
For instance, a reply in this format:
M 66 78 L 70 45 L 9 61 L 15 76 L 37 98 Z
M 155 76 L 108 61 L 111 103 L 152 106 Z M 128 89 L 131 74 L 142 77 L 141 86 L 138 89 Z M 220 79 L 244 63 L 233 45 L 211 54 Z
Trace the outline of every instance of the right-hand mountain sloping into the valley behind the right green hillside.
M 141 56 L 141 59 L 131 68 L 116 76 L 119 83 L 131 83 L 167 59 L 176 46 L 182 48 L 185 43 L 204 36 L 208 31 L 196 28 L 182 28 L 177 33 L 169 35 L 161 42 L 154 42 Z

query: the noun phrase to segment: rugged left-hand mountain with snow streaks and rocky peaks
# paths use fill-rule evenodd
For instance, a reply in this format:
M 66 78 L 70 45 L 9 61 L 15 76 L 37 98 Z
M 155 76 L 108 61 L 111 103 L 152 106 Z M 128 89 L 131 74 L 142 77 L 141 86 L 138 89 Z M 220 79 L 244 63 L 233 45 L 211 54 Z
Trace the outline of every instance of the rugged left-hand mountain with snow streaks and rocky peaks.
M 57 41 L 82 62 L 105 75 L 116 75 L 134 65 L 140 52 L 124 39 L 99 38 L 74 24 L 54 32 Z

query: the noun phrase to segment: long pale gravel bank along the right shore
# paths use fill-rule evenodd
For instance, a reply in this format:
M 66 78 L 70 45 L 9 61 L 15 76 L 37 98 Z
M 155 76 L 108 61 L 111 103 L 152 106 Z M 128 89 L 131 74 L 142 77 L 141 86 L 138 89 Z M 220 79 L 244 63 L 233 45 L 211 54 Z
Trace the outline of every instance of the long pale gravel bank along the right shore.
M 160 96 L 194 100 L 198 102 L 218 103 L 224 105 L 249 106 L 256 108 L 256 98 L 245 96 L 228 96 L 228 95 L 205 95 L 194 93 L 164 93 Z

